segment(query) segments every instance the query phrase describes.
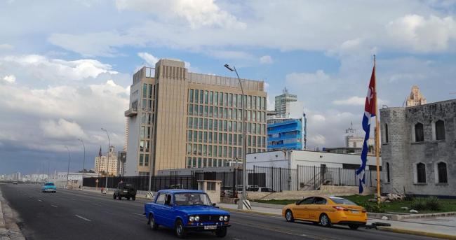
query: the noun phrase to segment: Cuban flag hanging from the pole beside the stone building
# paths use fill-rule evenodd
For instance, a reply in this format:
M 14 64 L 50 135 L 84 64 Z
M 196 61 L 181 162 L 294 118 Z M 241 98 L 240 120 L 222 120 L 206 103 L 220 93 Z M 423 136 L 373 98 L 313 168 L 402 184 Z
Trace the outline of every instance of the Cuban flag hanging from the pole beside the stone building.
M 375 101 L 377 101 L 377 91 L 375 91 L 375 66 L 372 70 L 372 76 L 370 76 L 370 83 L 368 89 L 368 95 L 366 97 L 366 104 L 364 105 L 363 115 L 363 130 L 366 132 L 364 136 L 363 151 L 361 152 L 361 167 L 356 170 L 356 175 L 359 178 L 359 193 L 363 193 L 366 187 L 366 175 L 365 169 L 368 162 L 368 140 L 370 133 L 370 118 L 375 116 Z

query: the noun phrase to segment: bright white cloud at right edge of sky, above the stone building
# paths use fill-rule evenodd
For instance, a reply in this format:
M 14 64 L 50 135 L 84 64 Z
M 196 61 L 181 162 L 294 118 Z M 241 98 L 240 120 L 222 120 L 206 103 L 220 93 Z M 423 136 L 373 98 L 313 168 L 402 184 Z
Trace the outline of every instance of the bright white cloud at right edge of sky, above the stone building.
M 456 22 L 452 16 L 438 17 L 410 14 L 387 24 L 394 44 L 418 52 L 440 52 L 456 40 Z

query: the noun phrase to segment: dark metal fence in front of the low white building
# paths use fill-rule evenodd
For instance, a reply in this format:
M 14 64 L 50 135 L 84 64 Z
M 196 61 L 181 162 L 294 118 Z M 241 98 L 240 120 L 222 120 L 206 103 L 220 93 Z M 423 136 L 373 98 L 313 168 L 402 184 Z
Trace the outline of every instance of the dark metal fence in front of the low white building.
M 251 189 L 269 188 L 275 192 L 286 190 L 318 190 L 321 185 L 357 186 L 359 182 L 356 169 L 342 169 L 330 167 L 297 166 L 296 169 L 279 167 L 256 167 L 247 170 L 247 185 Z M 222 192 L 235 195 L 241 190 L 242 170 L 230 172 L 203 172 L 195 173 L 195 180 L 222 181 Z M 376 184 L 375 171 L 366 170 L 366 185 L 373 187 Z

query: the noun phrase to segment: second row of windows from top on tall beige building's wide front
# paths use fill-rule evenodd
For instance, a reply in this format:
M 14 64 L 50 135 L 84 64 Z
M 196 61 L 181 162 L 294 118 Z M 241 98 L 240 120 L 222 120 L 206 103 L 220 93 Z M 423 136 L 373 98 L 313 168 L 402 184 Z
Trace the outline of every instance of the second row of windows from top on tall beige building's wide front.
M 224 118 L 231 120 L 242 120 L 242 110 L 236 108 L 222 108 L 216 106 L 188 105 L 188 114 L 208 118 Z M 247 115 L 246 115 L 247 114 Z M 244 111 L 247 121 L 264 122 L 266 113 L 264 111 Z

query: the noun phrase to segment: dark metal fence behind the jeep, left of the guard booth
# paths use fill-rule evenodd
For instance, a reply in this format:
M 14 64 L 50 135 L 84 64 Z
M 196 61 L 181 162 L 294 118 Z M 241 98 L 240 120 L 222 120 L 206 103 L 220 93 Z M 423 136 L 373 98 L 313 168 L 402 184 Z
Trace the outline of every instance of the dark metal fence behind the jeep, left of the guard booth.
M 98 184 L 97 184 L 98 179 Z M 107 188 L 116 188 L 120 182 L 133 183 L 136 190 L 147 191 L 149 189 L 149 176 L 123 176 L 123 177 L 108 177 Z M 83 185 L 86 187 L 105 188 L 106 177 L 84 178 Z M 196 181 L 194 176 L 152 176 L 152 191 L 159 191 L 169 188 L 185 188 L 196 189 Z

